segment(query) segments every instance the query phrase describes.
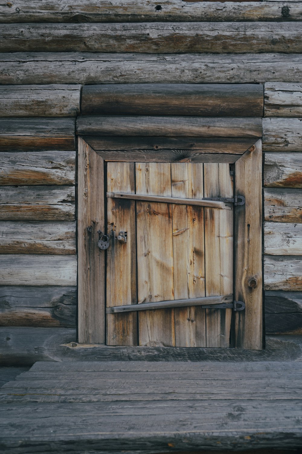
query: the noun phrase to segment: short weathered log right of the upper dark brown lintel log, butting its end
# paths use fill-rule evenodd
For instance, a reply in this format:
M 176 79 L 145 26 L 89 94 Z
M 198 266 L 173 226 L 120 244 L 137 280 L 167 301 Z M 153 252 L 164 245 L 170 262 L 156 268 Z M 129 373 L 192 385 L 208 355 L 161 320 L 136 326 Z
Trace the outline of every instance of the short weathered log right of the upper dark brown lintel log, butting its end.
M 264 117 L 302 117 L 302 84 L 264 84 Z

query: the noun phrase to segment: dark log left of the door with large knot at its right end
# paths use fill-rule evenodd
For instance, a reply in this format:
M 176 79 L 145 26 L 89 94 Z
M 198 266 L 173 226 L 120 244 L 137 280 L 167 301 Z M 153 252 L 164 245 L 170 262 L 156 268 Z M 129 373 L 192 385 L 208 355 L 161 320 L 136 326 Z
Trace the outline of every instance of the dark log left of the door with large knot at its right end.
M 0 287 L 1 326 L 76 325 L 76 287 Z

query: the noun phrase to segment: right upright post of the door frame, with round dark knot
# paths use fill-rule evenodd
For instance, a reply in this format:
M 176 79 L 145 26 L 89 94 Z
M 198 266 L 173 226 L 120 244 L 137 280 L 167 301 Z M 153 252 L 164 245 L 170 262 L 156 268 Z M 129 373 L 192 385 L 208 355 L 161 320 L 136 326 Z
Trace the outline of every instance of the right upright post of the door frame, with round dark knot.
M 236 347 L 262 350 L 262 143 L 258 140 L 235 163 L 235 194 L 245 205 L 235 208 Z

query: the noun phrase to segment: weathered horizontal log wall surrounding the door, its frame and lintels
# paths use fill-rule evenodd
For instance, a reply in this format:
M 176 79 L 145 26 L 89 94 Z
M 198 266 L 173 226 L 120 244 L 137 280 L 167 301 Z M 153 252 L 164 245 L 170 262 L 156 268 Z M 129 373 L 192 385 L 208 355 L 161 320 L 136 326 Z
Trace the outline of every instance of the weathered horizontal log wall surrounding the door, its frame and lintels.
M 302 334 L 301 20 L 297 1 L 0 5 L 6 362 L 76 341 L 75 121 L 89 84 L 263 85 L 266 332 Z

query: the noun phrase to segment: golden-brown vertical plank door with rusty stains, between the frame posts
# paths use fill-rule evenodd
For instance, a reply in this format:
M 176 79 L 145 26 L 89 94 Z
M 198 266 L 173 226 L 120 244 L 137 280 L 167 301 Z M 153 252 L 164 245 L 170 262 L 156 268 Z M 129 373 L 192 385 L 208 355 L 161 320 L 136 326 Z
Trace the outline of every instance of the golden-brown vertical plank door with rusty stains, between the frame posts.
M 106 167 L 107 312 L 116 306 L 233 294 L 233 206 L 148 200 L 233 197 L 230 164 L 107 162 Z M 126 243 L 118 241 L 120 232 L 127 232 Z M 190 304 L 107 313 L 106 343 L 229 347 L 231 315 L 231 309 Z

